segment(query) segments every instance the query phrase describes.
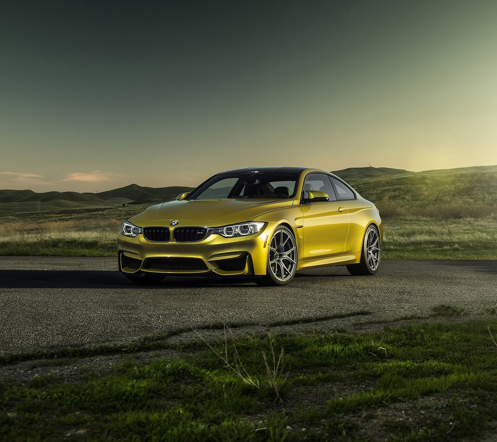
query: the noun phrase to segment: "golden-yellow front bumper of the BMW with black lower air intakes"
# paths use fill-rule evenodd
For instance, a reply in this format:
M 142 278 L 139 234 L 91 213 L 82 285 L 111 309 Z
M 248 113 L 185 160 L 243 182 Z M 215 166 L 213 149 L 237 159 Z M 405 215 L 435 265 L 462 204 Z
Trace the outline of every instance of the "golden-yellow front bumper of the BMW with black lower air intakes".
M 269 239 L 276 225 L 267 225 L 254 235 L 224 238 L 212 234 L 192 243 L 147 241 L 119 234 L 118 265 L 124 273 L 175 275 L 263 275 L 266 273 Z M 172 235 L 171 235 L 172 237 Z

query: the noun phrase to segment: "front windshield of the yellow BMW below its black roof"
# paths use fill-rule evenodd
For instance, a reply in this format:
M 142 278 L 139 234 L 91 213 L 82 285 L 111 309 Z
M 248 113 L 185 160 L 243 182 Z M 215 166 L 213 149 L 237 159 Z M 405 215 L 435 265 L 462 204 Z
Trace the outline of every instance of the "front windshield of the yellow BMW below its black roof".
M 194 189 L 187 199 L 293 198 L 297 174 L 250 172 L 219 174 Z

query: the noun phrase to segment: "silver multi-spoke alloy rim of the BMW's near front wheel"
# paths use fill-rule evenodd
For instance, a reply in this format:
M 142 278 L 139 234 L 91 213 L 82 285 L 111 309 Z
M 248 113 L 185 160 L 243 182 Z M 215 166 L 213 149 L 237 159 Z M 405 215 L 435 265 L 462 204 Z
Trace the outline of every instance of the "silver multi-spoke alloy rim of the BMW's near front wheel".
M 278 230 L 269 243 L 269 268 L 281 282 L 293 277 L 297 267 L 295 239 L 286 229 Z

